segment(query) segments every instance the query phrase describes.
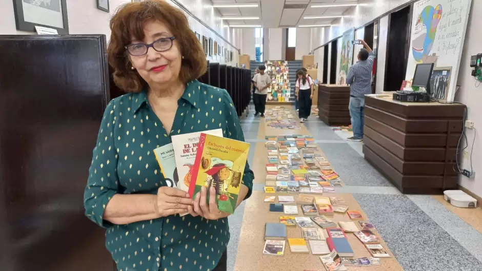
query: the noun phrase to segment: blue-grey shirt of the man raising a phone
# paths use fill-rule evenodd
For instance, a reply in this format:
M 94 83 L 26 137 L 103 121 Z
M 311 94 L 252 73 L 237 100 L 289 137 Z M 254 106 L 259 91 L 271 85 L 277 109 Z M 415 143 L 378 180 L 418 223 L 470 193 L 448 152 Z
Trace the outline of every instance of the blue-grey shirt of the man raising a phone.
M 351 66 L 347 75 L 347 84 L 350 85 L 350 95 L 364 97 L 372 93 L 372 69 L 375 53 L 372 51 L 367 60 L 358 61 Z

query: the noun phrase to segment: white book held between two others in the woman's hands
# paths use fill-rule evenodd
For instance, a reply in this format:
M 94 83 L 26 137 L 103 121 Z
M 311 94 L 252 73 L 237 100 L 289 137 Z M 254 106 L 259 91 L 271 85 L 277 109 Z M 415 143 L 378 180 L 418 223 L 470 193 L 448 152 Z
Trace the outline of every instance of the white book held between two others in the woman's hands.
M 176 160 L 177 176 L 179 178 L 177 188 L 186 192 L 189 192 L 201 133 L 223 137 L 222 129 L 173 135 L 171 137 Z M 180 214 L 180 216 L 187 214 L 188 213 Z

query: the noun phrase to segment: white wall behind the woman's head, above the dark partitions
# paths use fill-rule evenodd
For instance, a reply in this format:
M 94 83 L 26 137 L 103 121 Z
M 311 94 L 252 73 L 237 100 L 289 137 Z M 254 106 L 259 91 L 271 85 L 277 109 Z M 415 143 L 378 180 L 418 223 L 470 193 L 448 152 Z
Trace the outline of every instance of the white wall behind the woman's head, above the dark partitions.
M 221 15 L 212 8 L 210 0 L 178 0 L 188 10 L 190 10 L 198 18 L 206 22 L 217 33 L 224 36 L 231 44 L 238 49 L 242 45 L 242 35 L 240 29 L 224 28 L 222 26 Z M 70 34 L 104 34 L 107 39 L 110 38 L 109 20 L 119 5 L 129 3 L 131 0 L 109 0 L 110 13 L 97 9 L 97 2 L 94 0 L 69 0 L 67 1 L 67 14 L 69 19 Z M 175 5 L 171 2 L 172 5 Z M 177 5 L 175 5 L 177 7 Z M 236 66 L 238 63 L 237 51 L 225 43 L 221 38 L 215 35 L 208 28 L 197 22 L 193 17 L 188 15 L 189 23 L 194 31 L 213 38 L 221 46 L 228 48 L 234 52 L 232 62 L 228 65 Z M 13 13 L 13 1 L 0 1 L 0 34 L 10 35 L 32 35 L 34 32 L 18 31 L 15 27 L 15 17 Z M 209 60 L 224 63 L 224 57 L 208 57 Z

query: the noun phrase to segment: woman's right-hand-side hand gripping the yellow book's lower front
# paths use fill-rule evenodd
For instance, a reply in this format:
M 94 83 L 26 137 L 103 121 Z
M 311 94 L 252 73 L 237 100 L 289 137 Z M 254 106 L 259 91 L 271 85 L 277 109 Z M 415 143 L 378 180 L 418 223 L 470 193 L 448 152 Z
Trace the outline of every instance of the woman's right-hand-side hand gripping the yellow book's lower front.
M 209 220 L 217 220 L 219 218 L 228 217 L 230 214 L 221 212 L 216 204 L 216 190 L 211 186 L 209 191 L 209 203 L 207 203 L 206 187 L 201 187 L 201 192 L 194 197 L 194 206 L 188 206 L 189 213 L 192 216 L 202 216 Z

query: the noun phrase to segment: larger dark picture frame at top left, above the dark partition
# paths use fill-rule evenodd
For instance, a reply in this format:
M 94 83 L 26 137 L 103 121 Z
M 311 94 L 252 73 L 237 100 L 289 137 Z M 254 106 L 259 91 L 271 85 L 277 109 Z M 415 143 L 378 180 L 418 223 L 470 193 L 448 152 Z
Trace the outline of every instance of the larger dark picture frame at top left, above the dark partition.
M 13 0 L 13 13 L 17 30 L 35 32 L 35 26 L 57 30 L 59 35 L 69 34 L 67 0 L 51 0 L 50 5 L 35 0 Z

